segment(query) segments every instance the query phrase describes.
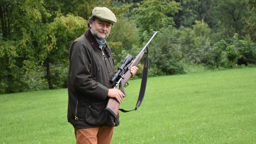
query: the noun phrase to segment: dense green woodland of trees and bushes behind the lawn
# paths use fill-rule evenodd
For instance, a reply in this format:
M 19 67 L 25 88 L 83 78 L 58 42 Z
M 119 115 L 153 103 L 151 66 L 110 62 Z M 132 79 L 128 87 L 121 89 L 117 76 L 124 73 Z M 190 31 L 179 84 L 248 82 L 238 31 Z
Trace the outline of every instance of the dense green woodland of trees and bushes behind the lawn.
M 116 69 L 153 31 L 149 76 L 256 64 L 256 0 L 0 0 L 0 93 L 66 88 L 69 46 L 95 6 L 116 14 Z

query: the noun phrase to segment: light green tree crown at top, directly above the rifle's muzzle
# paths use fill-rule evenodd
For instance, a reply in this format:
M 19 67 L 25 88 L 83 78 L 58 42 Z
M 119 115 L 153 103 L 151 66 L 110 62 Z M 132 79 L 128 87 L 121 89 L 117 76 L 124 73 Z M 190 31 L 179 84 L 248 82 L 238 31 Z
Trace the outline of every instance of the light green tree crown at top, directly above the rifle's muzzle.
M 173 18 L 168 14 L 174 15 L 180 10 L 180 3 L 169 0 L 144 0 L 137 4 L 138 7 L 133 10 L 137 16 L 137 25 L 141 34 L 174 25 Z

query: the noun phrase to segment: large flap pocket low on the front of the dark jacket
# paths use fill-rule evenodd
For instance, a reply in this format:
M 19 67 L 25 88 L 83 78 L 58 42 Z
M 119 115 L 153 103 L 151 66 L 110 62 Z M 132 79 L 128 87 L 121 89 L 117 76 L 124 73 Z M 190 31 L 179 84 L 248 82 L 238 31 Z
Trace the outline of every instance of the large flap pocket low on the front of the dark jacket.
M 105 102 L 88 103 L 86 102 L 85 121 L 89 124 L 104 124 L 107 121 L 107 112 L 105 111 Z

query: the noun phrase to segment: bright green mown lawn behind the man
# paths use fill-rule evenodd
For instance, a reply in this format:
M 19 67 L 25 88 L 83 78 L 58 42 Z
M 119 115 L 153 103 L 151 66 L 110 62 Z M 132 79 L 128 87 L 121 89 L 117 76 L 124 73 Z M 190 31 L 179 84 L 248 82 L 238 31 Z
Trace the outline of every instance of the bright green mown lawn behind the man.
M 135 107 L 140 80 L 121 108 Z M 67 89 L 0 95 L 0 143 L 75 143 Z M 256 68 L 148 78 L 141 107 L 120 112 L 112 143 L 256 143 Z

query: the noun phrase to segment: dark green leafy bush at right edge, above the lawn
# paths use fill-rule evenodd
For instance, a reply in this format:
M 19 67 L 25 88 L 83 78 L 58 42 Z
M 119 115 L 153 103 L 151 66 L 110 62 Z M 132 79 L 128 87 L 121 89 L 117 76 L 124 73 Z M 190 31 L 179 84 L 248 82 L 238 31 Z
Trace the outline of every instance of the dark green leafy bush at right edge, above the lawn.
M 256 44 L 249 36 L 238 39 L 238 34 L 235 34 L 229 41 L 220 40 L 213 45 L 208 66 L 233 68 L 237 65 L 256 64 Z

